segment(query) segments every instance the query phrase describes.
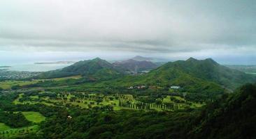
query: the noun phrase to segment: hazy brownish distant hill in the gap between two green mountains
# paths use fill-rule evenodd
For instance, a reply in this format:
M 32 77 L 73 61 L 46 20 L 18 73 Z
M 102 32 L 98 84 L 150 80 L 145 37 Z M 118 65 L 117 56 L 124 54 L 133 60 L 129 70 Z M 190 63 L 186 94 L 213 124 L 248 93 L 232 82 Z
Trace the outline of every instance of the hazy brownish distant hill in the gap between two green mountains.
M 113 65 L 121 70 L 134 73 L 142 72 L 143 70 L 152 70 L 157 67 L 155 63 L 150 61 L 137 61 L 132 59 L 115 62 Z

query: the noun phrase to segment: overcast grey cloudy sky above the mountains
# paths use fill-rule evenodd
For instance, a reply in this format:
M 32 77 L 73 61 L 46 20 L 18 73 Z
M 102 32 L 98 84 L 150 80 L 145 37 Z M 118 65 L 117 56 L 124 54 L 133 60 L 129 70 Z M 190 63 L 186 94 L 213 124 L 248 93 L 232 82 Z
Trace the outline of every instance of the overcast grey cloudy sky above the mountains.
M 137 55 L 256 64 L 256 1 L 0 1 L 0 65 Z

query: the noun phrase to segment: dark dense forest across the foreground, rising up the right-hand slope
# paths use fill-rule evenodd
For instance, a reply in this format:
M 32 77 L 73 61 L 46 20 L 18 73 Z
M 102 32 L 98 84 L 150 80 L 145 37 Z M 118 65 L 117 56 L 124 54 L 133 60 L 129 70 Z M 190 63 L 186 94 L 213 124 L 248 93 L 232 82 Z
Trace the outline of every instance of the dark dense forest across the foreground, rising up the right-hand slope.
M 56 108 L 40 132 L 24 138 L 255 138 L 255 92 L 256 85 L 243 85 L 196 111 Z

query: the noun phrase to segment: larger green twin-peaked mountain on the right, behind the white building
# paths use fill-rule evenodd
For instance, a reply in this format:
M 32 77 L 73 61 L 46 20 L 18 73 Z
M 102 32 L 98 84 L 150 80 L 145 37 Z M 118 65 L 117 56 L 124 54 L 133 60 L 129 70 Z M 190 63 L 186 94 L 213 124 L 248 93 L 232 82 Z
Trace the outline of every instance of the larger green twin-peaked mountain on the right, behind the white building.
M 154 85 L 169 88 L 179 85 L 183 91 L 202 93 L 204 95 L 220 95 L 231 92 L 236 86 L 253 82 L 252 76 L 231 70 L 211 58 L 197 60 L 178 60 L 166 63 L 148 74 L 127 76 L 125 79 L 112 81 L 111 85 Z

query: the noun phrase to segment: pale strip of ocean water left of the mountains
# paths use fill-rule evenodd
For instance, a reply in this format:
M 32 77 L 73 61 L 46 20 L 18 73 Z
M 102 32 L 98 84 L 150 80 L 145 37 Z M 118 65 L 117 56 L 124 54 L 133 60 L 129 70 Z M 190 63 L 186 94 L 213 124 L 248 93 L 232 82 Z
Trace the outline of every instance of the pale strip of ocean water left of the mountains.
M 26 72 L 47 72 L 50 70 L 62 69 L 72 64 L 20 64 L 11 65 L 8 70 L 13 71 L 26 71 Z

